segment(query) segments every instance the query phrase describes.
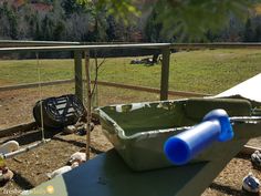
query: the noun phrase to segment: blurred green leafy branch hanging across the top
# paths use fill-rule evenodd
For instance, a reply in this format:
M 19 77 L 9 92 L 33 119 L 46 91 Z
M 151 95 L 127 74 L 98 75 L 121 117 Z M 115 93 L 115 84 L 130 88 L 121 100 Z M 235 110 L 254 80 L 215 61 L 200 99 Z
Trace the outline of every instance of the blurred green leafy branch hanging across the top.
M 250 11 L 260 12 L 261 0 L 77 0 L 92 3 L 96 10 L 113 14 L 116 19 L 132 21 L 129 16 L 156 12 L 156 21 L 161 24 L 161 37 L 175 41 L 199 41 L 206 33 L 218 32 L 228 27 L 231 16 L 246 20 Z

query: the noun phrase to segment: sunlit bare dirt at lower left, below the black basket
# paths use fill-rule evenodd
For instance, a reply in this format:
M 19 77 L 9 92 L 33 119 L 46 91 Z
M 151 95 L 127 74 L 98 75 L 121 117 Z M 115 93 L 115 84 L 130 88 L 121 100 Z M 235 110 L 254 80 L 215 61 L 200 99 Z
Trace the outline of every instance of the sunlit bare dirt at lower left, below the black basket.
M 1 187 L 0 195 L 18 195 L 20 190 L 31 189 L 40 185 L 48 180 L 48 173 L 66 165 L 73 153 L 85 147 L 85 136 L 63 135 L 61 133 L 48 133 L 45 136 L 46 138 L 51 137 L 51 142 L 14 158 L 7 159 L 7 165 L 14 173 L 14 178 Z M 4 137 L 2 141 L 10 138 L 18 141 L 21 146 L 25 146 L 40 141 L 41 133 L 39 131 L 20 133 L 12 137 Z M 113 147 L 101 133 L 100 126 L 96 126 L 92 132 L 91 142 L 91 158 Z M 11 193 L 10 190 L 15 192 Z

